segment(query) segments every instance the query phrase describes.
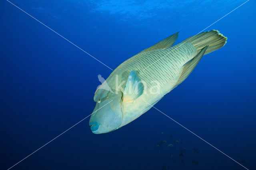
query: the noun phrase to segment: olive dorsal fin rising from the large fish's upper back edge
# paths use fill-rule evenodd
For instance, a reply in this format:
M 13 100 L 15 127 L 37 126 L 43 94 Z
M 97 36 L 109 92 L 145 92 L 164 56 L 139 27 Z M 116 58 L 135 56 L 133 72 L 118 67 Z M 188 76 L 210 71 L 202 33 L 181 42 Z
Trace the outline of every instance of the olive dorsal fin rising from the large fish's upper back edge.
M 152 49 L 166 49 L 166 48 L 169 48 L 171 47 L 174 42 L 178 39 L 178 33 L 179 32 L 176 32 L 175 34 L 167 37 L 166 39 L 156 43 L 155 45 L 152 45 L 151 47 L 148 47 L 146 49 L 144 49 L 143 51 L 140 51 L 141 52 L 145 52 L 145 51 L 150 51 Z

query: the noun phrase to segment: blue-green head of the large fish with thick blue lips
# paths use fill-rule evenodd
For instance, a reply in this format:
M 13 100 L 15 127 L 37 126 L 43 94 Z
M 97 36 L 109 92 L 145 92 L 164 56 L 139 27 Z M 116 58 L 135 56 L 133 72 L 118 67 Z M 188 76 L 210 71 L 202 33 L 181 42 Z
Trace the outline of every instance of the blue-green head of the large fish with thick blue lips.
M 98 89 L 94 95 L 96 106 L 90 117 L 89 125 L 95 134 L 107 133 L 118 129 L 123 120 L 121 91 Z

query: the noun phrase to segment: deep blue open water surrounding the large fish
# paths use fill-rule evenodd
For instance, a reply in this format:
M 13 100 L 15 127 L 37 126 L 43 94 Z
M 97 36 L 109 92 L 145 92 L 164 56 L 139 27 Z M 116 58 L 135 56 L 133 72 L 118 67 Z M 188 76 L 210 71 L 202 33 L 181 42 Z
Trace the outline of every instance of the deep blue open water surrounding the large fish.
M 245 1 L 11 2 L 115 69 L 178 31 L 177 43 L 198 34 Z M 242 164 L 250 170 L 256 169 L 255 9 L 250 0 L 207 28 L 228 37 L 226 45 L 205 55 L 155 105 L 231 158 L 246 160 Z M 107 78 L 112 71 L 5 0 L 0 21 L 0 169 L 8 169 L 90 115 L 97 75 Z M 88 122 L 12 169 L 245 169 L 153 108 L 107 134 L 93 134 Z M 177 139 L 170 150 L 167 144 Z M 167 144 L 154 147 L 161 140 Z M 182 164 L 178 155 L 184 147 Z

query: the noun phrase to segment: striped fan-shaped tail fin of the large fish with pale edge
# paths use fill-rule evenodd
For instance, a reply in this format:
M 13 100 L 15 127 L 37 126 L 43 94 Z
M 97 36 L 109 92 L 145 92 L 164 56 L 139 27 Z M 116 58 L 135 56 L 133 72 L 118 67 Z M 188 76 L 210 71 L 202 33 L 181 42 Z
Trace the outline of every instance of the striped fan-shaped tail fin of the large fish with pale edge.
M 208 45 L 204 55 L 211 53 L 221 47 L 223 47 L 228 38 L 219 33 L 218 30 L 212 30 L 202 32 L 190 38 L 187 38 L 183 42 L 190 42 L 198 51 Z

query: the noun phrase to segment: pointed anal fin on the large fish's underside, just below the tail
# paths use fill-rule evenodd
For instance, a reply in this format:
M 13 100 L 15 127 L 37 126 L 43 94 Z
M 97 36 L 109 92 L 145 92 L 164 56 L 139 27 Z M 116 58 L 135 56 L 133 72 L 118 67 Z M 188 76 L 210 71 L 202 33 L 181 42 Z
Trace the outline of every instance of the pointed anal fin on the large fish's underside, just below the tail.
M 194 57 L 193 59 L 191 59 L 190 61 L 188 61 L 186 64 L 183 65 L 183 69 L 182 69 L 180 78 L 178 79 L 178 81 L 177 81 L 176 85 L 173 87 L 173 89 L 175 87 L 177 87 L 180 83 L 182 83 L 182 81 L 184 81 L 188 77 L 188 75 L 190 75 L 190 73 L 194 70 L 194 68 L 196 67 L 196 65 L 199 63 L 200 59 L 204 55 L 207 47 L 208 47 L 208 45 L 206 47 L 202 48 L 201 51 L 196 55 L 196 57 Z

